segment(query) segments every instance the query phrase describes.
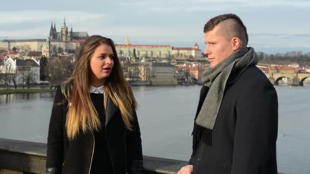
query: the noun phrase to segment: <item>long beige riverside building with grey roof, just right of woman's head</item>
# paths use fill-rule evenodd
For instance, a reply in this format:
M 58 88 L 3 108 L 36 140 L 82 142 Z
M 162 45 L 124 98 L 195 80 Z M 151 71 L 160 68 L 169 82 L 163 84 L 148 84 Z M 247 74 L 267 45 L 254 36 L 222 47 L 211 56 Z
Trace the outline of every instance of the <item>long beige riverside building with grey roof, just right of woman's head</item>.
M 152 85 L 174 85 L 176 66 L 160 62 L 132 63 L 126 73 L 127 80 L 151 81 Z

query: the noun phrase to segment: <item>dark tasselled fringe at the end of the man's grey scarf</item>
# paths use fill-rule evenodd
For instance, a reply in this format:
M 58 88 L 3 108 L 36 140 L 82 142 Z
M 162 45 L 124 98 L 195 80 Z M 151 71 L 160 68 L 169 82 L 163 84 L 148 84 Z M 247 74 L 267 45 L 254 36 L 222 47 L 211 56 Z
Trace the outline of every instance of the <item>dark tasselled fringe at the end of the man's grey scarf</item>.
M 193 149 L 195 149 L 197 142 L 203 142 L 204 144 L 210 147 L 212 146 L 211 129 L 199 126 L 195 122 L 192 135 L 193 135 Z

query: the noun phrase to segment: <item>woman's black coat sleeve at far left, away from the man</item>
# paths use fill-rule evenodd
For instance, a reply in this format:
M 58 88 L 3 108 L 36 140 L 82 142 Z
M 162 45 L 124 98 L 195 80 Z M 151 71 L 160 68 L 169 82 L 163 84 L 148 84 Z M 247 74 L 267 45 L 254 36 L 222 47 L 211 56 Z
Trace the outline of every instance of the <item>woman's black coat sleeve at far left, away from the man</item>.
M 50 174 L 61 173 L 63 163 L 63 96 L 60 85 L 51 109 L 51 116 L 47 136 L 46 172 Z

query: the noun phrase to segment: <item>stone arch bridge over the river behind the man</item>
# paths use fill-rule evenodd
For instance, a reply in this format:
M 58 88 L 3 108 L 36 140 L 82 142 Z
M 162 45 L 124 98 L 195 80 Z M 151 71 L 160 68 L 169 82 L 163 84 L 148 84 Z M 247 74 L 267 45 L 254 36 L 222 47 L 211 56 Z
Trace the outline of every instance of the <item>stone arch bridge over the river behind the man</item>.
M 303 86 L 304 80 L 310 78 L 310 74 L 307 73 L 265 73 L 265 75 L 273 85 L 279 85 L 279 80 L 288 78 L 292 80 L 292 86 Z

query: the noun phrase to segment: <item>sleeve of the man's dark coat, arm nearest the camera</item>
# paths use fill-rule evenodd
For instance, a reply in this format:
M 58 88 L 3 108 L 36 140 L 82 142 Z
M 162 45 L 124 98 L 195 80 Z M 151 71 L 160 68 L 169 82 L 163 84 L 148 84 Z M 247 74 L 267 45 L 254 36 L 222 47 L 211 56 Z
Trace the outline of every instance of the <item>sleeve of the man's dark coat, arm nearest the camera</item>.
M 269 80 L 261 79 L 239 89 L 232 174 L 277 173 L 277 94 Z

